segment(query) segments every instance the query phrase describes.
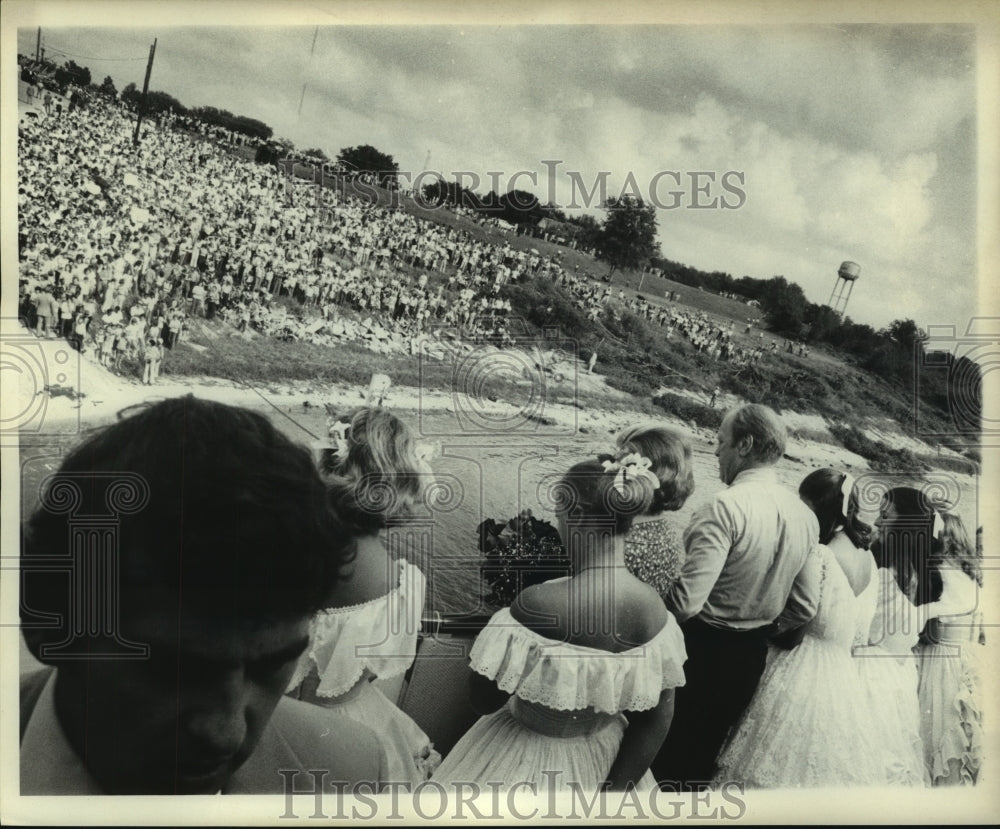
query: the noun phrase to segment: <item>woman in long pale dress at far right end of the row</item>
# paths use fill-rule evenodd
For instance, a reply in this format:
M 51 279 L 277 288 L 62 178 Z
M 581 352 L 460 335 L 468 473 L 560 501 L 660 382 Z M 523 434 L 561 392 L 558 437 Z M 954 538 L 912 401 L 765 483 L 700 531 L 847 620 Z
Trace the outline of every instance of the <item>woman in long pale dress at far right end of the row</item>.
M 975 785 L 983 753 L 980 698 L 982 570 L 957 515 L 941 515 L 941 599 L 917 647 L 920 735 L 935 786 Z

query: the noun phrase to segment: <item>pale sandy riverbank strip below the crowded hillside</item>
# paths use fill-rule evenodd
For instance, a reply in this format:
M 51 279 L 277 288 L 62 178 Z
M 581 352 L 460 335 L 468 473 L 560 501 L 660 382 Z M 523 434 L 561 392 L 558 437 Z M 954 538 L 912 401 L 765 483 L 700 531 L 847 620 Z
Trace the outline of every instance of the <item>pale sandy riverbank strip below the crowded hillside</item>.
M 322 441 L 324 425 L 308 425 L 307 421 L 313 420 L 309 415 L 325 413 L 327 409 L 343 412 L 364 405 L 366 400 L 366 388 L 356 382 L 240 382 L 205 375 L 162 374 L 155 385 L 146 386 L 137 378 L 113 373 L 99 365 L 93 353 L 81 356 L 65 341 L 35 338 L 20 326 L 5 334 L 5 350 L 5 368 L 16 371 L 17 393 L 4 395 L 3 422 L 23 421 L 22 439 L 27 440 L 32 440 L 33 435 L 71 433 L 100 426 L 114 420 L 123 409 L 147 401 L 195 394 L 268 412 L 279 420 L 297 424 L 300 440 Z M 556 373 L 550 369 L 556 359 L 551 353 L 507 350 L 486 352 L 477 359 L 471 375 L 456 375 L 453 390 L 392 385 L 385 405 L 401 414 L 415 416 L 418 431 L 426 431 L 424 436 L 431 438 L 464 436 L 530 442 L 556 435 L 602 437 L 613 436 L 637 420 L 659 420 L 681 429 L 702 448 L 714 444 L 714 428 L 612 388 L 604 376 L 590 373 L 580 360 L 563 362 Z M 393 379 L 382 355 L 370 354 L 365 362 L 362 373 L 385 370 Z M 447 381 L 446 372 L 444 375 Z M 498 377 L 507 381 L 498 385 L 506 394 L 495 390 L 482 395 L 475 393 Z M 10 388 L 9 376 L 6 379 Z M 434 379 L 442 385 L 440 377 Z M 458 390 L 462 388 L 474 393 Z M 688 387 L 664 386 L 657 391 L 706 405 L 703 395 Z M 722 393 L 715 407 L 721 416 L 723 411 L 742 402 L 736 395 Z M 786 453 L 789 460 L 810 467 L 834 466 L 854 472 L 872 468 L 868 459 L 838 445 L 830 431 L 829 418 L 790 410 L 780 416 L 789 431 Z M 906 448 L 923 459 L 932 461 L 935 454 L 941 454 L 940 449 L 902 434 L 890 423 L 862 431 L 871 439 Z M 948 457 L 958 457 L 955 452 L 944 451 Z

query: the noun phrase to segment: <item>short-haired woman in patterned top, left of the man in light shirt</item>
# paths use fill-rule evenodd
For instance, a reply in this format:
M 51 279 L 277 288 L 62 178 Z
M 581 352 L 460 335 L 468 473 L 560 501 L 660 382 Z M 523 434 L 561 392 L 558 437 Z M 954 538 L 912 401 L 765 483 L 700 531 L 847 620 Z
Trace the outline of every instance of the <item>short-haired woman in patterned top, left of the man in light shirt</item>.
M 665 596 L 684 565 L 684 545 L 665 513 L 679 510 L 694 492 L 691 445 L 676 429 L 655 424 L 626 429 L 617 443 L 619 453 L 649 458 L 660 484 L 649 509 L 636 516 L 625 536 L 625 566 Z

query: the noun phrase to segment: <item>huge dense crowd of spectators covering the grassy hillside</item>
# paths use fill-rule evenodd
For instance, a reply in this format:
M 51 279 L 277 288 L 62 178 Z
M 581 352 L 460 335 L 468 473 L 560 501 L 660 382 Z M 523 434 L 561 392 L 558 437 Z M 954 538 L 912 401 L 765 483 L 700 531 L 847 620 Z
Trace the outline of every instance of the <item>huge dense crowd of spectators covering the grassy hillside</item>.
M 731 326 L 704 314 L 623 292 L 615 302 L 558 255 L 293 185 L 234 155 L 233 133 L 189 116 L 147 119 L 135 146 L 130 115 L 91 96 L 19 129 L 19 313 L 114 370 L 138 361 L 155 380 L 202 317 L 248 337 L 382 353 L 432 350 L 439 339 L 510 345 L 502 289 L 539 278 L 567 289 L 592 322 L 627 307 L 716 359 L 764 353 L 736 347 Z

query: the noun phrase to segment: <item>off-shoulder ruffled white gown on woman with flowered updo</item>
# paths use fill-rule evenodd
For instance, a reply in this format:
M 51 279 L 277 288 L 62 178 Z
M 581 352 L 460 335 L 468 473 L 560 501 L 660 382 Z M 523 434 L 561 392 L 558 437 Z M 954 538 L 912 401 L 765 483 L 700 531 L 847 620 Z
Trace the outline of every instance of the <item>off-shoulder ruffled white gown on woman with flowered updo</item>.
M 645 645 L 611 653 L 548 639 L 500 610 L 470 660 L 513 696 L 472 726 L 432 779 L 596 791 L 618 756 L 627 725 L 622 711 L 653 708 L 663 689 L 683 685 L 686 658 L 673 616 Z M 654 786 L 647 770 L 637 788 Z

